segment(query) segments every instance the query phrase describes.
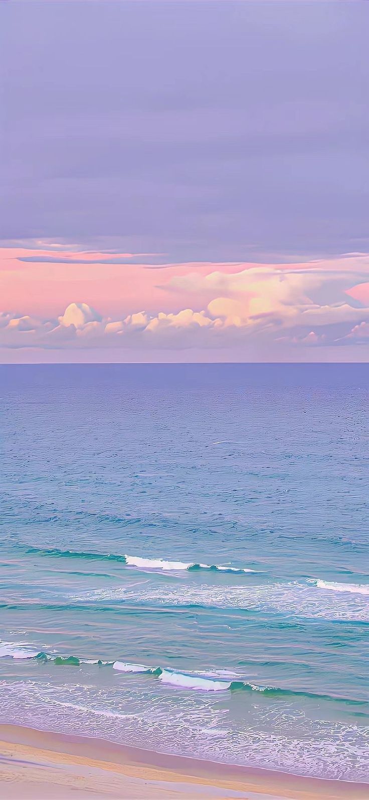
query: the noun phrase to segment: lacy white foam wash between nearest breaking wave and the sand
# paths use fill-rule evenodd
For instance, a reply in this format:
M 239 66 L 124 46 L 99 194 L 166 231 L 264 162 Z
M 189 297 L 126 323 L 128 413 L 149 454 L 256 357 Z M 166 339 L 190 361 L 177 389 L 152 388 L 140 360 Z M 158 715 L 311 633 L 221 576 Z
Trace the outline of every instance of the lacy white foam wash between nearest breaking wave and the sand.
M 262 705 L 247 694 L 248 712 L 231 720 L 225 704 L 217 702 L 219 694 L 193 692 L 189 701 L 178 702 L 173 692 L 158 697 L 157 688 L 157 682 L 146 682 L 135 694 L 117 684 L 97 690 L 69 682 L 0 681 L 1 719 L 111 742 L 134 740 L 160 753 L 367 781 L 367 726 L 322 721 L 290 702 L 282 709 Z

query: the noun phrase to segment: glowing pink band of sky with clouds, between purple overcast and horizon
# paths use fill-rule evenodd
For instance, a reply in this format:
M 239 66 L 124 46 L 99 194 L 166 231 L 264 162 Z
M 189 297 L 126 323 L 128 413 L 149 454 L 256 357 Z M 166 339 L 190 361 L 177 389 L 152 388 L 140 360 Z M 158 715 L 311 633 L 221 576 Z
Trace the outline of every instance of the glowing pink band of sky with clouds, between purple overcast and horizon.
M 367 254 L 282 264 L 148 258 L 3 248 L 3 360 L 102 351 L 117 360 L 183 360 L 184 351 L 187 360 L 367 358 Z

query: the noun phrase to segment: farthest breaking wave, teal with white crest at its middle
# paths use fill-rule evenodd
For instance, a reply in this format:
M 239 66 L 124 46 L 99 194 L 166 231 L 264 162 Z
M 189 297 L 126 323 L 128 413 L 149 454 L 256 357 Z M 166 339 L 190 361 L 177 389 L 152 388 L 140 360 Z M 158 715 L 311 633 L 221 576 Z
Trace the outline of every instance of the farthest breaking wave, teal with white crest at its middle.
M 181 570 L 212 570 L 212 572 L 255 572 L 248 567 L 220 566 L 218 564 L 201 564 L 200 562 L 169 561 L 165 558 L 142 558 L 136 555 L 113 554 L 113 553 L 89 553 L 81 550 L 58 550 L 51 548 L 46 550 L 42 547 L 27 547 L 26 554 L 50 556 L 54 558 L 81 558 L 94 561 L 113 561 L 125 564 L 126 566 L 136 566 L 139 570 L 165 570 L 165 572 L 178 572 Z

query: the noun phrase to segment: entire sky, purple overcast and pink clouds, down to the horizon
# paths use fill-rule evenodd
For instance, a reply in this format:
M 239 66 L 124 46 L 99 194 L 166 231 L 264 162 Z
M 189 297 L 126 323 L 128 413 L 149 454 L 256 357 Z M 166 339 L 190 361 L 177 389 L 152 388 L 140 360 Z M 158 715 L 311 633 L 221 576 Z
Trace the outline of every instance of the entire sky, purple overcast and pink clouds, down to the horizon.
M 0 2 L 0 361 L 369 361 L 368 23 Z

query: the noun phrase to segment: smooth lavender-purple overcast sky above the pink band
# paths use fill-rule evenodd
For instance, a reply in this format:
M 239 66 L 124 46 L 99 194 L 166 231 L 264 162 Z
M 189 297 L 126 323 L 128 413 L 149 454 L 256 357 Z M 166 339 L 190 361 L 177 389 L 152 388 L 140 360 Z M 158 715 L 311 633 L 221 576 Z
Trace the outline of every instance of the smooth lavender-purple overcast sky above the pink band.
M 0 245 L 137 270 L 367 254 L 368 23 L 367 2 L 1 2 Z

